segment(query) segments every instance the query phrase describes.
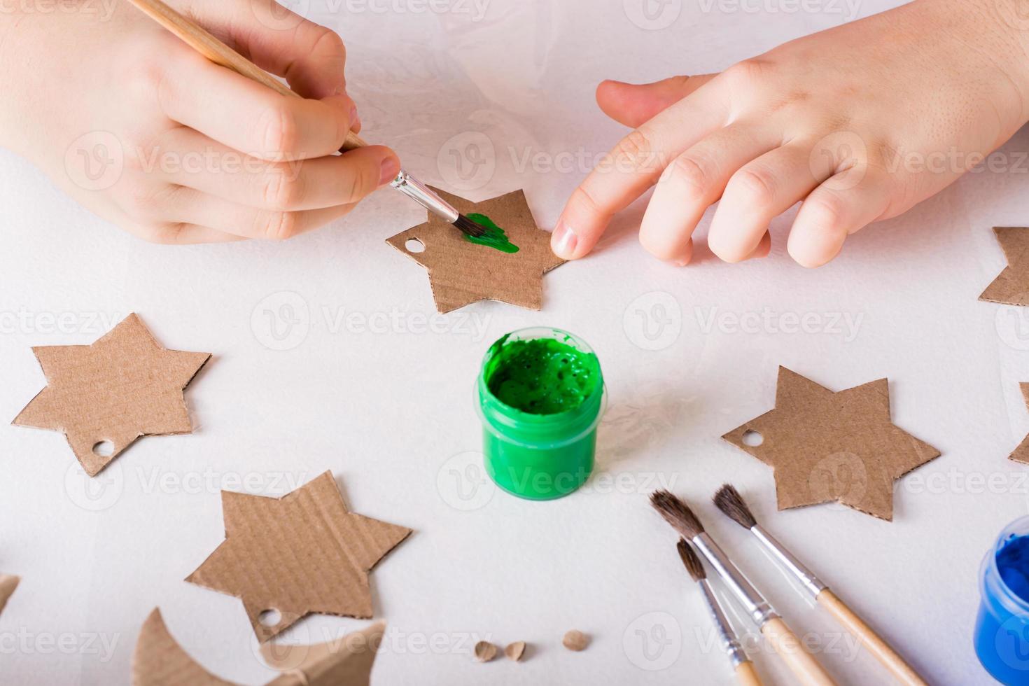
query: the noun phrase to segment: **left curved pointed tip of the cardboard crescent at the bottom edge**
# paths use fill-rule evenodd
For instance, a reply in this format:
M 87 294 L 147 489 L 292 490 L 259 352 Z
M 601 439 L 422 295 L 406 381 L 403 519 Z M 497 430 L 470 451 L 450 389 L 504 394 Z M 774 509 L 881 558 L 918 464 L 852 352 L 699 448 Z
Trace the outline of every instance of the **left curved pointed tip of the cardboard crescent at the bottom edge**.
M 238 686 L 198 664 L 172 638 L 156 608 L 143 622 L 136 641 L 132 683 L 133 686 Z

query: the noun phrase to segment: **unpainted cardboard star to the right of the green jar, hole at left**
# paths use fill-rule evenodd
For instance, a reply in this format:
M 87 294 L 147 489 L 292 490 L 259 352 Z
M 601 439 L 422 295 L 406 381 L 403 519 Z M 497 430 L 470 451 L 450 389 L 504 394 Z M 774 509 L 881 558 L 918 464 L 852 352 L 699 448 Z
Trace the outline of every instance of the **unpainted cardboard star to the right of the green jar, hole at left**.
M 774 468 L 780 510 L 838 501 L 887 520 L 893 481 L 939 457 L 893 425 L 887 380 L 833 393 L 785 367 L 775 409 L 722 438 Z

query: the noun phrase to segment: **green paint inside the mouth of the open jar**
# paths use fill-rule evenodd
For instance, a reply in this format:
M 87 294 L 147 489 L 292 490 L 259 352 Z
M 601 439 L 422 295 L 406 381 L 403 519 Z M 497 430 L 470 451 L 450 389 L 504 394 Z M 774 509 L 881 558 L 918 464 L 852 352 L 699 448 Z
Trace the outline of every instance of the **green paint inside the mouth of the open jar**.
M 567 339 L 567 336 L 565 336 Z M 558 414 L 597 388 L 597 356 L 554 338 L 497 341 L 486 383 L 502 403 L 529 414 Z

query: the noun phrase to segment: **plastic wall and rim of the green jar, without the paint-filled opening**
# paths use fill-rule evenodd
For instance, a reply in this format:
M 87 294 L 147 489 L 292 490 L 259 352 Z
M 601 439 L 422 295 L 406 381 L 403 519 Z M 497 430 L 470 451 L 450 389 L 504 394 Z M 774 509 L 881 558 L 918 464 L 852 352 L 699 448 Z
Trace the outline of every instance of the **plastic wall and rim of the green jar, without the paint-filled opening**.
M 567 410 L 531 413 L 501 401 L 490 390 L 505 347 L 517 341 L 553 339 L 579 359 L 595 362 L 592 391 Z M 604 378 L 593 350 L 559 329 L 530 328 L 508 333 L 483 359 L 477 400 L 483 421 L 483 454 L 490 478 L 504 491 L 528 500 L 553 500 L 586 483 L 593 472 L 597 425 L 605 404 Z

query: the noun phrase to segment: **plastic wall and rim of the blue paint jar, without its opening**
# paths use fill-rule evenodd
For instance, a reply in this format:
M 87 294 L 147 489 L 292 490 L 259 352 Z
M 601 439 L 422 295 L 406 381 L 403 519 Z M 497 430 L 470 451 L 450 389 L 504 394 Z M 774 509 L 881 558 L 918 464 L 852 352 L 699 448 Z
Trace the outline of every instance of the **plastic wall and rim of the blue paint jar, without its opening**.
M 1029 516 L 1013 521 L 1000 532 L 980 570 L 982 602 L 975 620 L 975 654 L 1002 684 L 1029 684 L 1029 602 L 1008 587 L 997 566 L 997 554 L 1027 535 Z

